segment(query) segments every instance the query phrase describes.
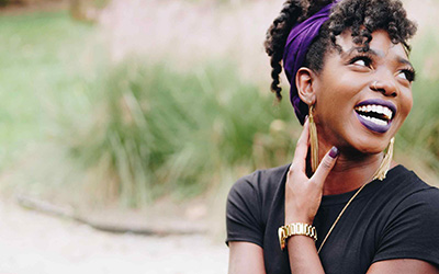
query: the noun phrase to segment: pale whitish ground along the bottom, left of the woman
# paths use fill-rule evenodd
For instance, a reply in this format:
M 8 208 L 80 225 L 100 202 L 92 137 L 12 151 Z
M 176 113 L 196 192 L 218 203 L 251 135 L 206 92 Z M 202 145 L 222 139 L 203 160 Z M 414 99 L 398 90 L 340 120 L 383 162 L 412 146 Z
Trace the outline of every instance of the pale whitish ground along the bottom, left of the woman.
M 203 235 L 114 235 L 12 203 L 0 220 L 1 274 L 227 272 L 227 247 Z

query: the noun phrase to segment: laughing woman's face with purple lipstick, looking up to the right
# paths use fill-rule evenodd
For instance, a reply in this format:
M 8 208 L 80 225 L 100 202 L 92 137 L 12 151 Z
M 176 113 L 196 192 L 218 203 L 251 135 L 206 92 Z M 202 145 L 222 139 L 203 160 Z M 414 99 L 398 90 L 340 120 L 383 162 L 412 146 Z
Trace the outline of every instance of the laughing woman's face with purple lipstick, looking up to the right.
M 372 37 L 370 50 L 359 53 L 350 31 L 338 36 L 342 53 L 328 53 L 313 82 L 319 139 L 346 152 L 383 151 L 413 104 L 414 70 L 404 47 L 385 31 Z

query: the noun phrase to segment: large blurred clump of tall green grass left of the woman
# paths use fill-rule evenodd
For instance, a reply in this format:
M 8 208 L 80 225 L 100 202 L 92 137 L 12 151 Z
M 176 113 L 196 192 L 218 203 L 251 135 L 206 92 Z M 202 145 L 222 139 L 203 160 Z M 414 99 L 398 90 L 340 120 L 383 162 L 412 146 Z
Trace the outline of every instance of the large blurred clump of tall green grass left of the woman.
M 224 168 L 288 161 L 290 133 L 280 121 L 291 119 L 290 107 L 273 107 L 273 96 L 241 82 L 224 60 L 184 72 L 127 60 L 109 72 L 100 94 L 94 123 L 71 135 L 72 152 L 87 167 L 106 167 L 124 204 L 192 196 Z

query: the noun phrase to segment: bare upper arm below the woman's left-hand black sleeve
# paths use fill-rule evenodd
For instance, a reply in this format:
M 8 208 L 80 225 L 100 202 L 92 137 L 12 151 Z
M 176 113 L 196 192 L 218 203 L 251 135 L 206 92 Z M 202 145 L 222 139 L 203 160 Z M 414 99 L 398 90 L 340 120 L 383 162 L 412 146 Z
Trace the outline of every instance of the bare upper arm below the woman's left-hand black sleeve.
M 228 274 L 266 274 L 262 248 L 245 241 L 228 242 Z

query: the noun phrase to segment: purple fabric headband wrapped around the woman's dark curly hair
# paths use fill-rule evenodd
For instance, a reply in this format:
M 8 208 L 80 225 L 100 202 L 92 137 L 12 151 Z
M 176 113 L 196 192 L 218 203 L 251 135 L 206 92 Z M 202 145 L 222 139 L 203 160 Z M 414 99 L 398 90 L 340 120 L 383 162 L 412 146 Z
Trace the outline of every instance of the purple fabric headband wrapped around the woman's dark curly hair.
M 325 5 L 307 20 L 293 26 L 286 39 L 283 52 L 283 69 L 291 85 L 290 101 L 301 124 L 304 123 L 305 116 L 308 114 L 308 105 L 299 98 L 295 75 L 303 65 L 311 43 L 317 37 L 323 23 L 329 19 L 330 9 L 337 2 Z

